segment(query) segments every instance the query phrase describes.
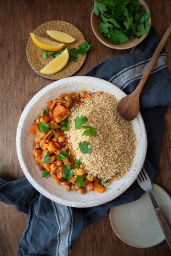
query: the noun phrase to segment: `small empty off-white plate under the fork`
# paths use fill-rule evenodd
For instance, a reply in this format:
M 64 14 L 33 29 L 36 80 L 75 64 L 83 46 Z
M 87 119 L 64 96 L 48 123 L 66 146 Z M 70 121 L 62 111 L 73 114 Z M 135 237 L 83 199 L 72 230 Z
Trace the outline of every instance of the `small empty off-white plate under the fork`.
M 169 194 L 157 184 L 153 184 L 153 194 L 171 226 Z M 139 200 L 111 208 L 109 218 L 115 234 L 128 245 L 148 248 L 165 240 L 147 193 Z

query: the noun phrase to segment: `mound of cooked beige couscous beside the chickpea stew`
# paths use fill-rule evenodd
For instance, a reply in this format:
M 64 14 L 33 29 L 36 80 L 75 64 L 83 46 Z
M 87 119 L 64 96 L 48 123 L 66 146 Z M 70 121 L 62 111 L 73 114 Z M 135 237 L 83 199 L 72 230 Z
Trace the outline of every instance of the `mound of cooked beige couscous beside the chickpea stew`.
M 119 116 L 117 102 L 111 94 L 92 94 L 83 100 L 83 104 L 71 109 L 70 130 L 65 131 L 76 159 L 82 161 L 89 174 L 99 177 L 103 185 L 127 173 L 135 155 L 136 138 L 132 123 Z M 97 129 L 96 137 L 83 136 L 82 129 L 75 129 L 77 116 L 87 117 L 86 125 Z M 79 149 L 79 143 L 85 140 L 92 149 L 90 154 L 83 154 Z

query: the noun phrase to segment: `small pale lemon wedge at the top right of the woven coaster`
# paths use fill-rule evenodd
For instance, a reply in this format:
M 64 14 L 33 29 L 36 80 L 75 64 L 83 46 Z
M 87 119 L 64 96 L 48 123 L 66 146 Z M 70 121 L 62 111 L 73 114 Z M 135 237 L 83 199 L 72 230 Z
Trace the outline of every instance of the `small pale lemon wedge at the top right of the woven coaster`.
M 47 30 L 46 32 L 51 38 L 61 43 L 74 43 L 76 41 L 74 37 L 64 32 L 60 32 L 57 30 Z

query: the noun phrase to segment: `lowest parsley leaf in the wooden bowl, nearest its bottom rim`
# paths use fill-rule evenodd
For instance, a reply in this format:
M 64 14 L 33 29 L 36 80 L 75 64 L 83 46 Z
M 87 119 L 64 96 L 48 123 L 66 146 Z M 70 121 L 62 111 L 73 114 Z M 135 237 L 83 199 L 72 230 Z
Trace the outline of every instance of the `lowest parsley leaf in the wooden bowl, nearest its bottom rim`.
M 113 44 L 125 43 L 129 40 L 122 30 L 109 30 L 108 38 Z

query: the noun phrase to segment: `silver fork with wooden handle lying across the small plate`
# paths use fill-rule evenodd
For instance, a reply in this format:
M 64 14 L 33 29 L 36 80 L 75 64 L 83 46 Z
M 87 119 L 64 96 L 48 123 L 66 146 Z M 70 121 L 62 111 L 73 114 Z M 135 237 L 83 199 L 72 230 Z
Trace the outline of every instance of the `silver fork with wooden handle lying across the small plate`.
M 146 172 L 144 166 L 143 166 L 143 169 L 141 170 L 139 176 L 137 177 L 137 182 L 139 183 L 140 187 L 144 191 L 148 192 L 150 200 L 152 201 L 152 204 L 154 206 L 154 211 L 158 218 L 158 222 L 160 223 L 161 229 L 165 235 L 169 249 L 171 250 L 171 230 L 170 230 L 170 227 L 164 217 L 164 214 L 161 212 L 161 209 L 159 208 L 159 206 L 156 202 L 156 199 L 154 198 L 154 196 L 152 194 L 152 182 L 150 181 L 150 178 L 149 178 L 148 173 Z

